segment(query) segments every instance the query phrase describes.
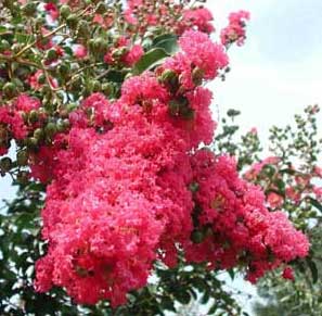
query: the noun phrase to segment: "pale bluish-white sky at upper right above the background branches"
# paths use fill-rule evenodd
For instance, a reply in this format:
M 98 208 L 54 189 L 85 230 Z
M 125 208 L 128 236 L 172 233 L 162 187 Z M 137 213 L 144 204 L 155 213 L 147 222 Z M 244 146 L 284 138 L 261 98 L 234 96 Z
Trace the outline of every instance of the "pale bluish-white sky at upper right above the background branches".
M 229 52 L 227 80 L 211 85 L 221 113 L 239 109 L 245 128 L 267 136 L 305 105 L 322 104 L 321 0 L 209 0 L 208 7 L 220 26 L 231 11 L 252 16 L 245 46 Z

